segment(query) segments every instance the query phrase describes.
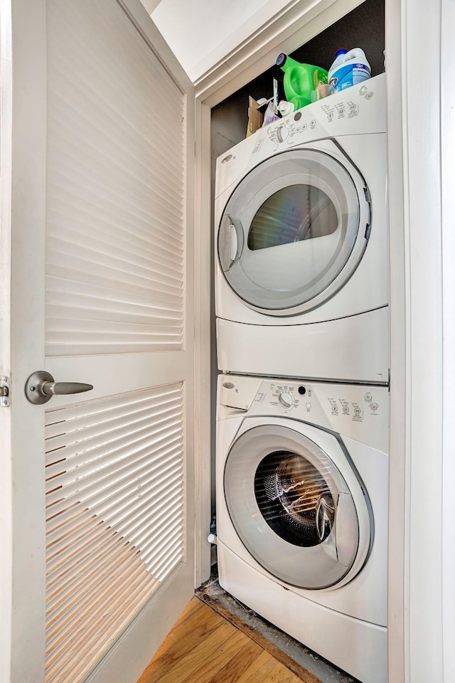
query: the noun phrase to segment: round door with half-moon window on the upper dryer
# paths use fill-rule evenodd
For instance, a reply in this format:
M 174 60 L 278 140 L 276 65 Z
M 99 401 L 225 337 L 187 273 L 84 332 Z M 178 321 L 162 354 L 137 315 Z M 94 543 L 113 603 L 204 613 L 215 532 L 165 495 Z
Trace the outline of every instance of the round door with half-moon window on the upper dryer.
M 270 315 L 304 312 L 333 296 L 365 250 L 365 190 L 348 159 L 341 164 L 318 149 L 282 152 L 256 166 L 218 228 L 220 268 L 235 294 Z

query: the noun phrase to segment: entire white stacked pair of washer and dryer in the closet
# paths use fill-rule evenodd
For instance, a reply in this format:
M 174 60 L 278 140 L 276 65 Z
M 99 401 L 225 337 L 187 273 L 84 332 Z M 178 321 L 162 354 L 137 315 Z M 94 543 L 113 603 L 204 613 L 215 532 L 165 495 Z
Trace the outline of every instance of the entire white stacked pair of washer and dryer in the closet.
M 217 161 L 220 585 L 387 681 L 385 74 Z

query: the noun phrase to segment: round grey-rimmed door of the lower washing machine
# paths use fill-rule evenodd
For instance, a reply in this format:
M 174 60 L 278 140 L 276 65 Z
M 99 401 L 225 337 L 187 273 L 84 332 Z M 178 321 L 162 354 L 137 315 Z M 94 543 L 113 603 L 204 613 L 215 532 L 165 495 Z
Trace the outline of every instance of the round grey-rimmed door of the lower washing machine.
M 346 461 L 335 438 L 333 443 Z M 281 425 L 252 427 L 232 445 L 224 472 L 230 518 L 247 550 L 273 576 L 316 589 L 346 583 L 360 571 L 370 517 L 348 468 L 349 486 L 317 443 Z

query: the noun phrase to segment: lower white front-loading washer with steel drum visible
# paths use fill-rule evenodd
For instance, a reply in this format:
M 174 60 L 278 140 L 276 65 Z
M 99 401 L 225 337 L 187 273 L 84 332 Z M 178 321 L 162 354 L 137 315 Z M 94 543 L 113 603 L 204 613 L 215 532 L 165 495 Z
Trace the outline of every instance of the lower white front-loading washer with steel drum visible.
M 220 585 L 363 683 L 387 682 L 388 391 L 220 375 Z

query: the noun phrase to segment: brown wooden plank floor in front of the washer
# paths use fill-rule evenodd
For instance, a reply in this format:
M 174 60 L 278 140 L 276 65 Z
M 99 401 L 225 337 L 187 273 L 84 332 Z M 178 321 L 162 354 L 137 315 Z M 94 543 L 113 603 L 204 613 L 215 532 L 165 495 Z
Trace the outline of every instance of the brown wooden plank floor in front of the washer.
M 223 616 L 193 598 L 138 683 L 301 683 Z

